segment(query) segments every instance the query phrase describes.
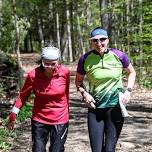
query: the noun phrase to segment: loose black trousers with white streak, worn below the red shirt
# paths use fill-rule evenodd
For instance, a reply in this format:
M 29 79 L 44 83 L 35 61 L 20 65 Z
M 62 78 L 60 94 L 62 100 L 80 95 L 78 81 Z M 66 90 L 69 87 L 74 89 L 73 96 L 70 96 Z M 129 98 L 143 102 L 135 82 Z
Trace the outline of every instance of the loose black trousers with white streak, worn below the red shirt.
M 67 133 L 68 123 L 47 125 L 32 120 L 32 152 L 46 152 L 46 144 L 49 136 L 49 152 L 64 152 Z

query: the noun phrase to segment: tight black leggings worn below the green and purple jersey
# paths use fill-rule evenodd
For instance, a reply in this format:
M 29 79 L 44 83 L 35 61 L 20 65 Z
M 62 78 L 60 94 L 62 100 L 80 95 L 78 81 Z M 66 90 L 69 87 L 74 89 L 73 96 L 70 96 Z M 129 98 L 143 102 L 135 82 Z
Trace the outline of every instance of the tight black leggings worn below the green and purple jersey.
M 119 107 L 88 110 L 92 152 L 115 152 L 124 118 Z

